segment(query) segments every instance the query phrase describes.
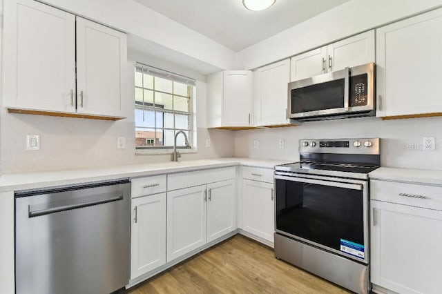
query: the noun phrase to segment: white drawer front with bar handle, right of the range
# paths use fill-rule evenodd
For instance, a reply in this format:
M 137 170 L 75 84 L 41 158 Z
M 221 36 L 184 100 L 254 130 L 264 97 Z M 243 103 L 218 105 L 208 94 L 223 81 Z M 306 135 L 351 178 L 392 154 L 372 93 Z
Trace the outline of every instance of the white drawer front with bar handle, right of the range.
M 372 180 L 370 196 L 372 200 L 442 210 L 441 186 Z

